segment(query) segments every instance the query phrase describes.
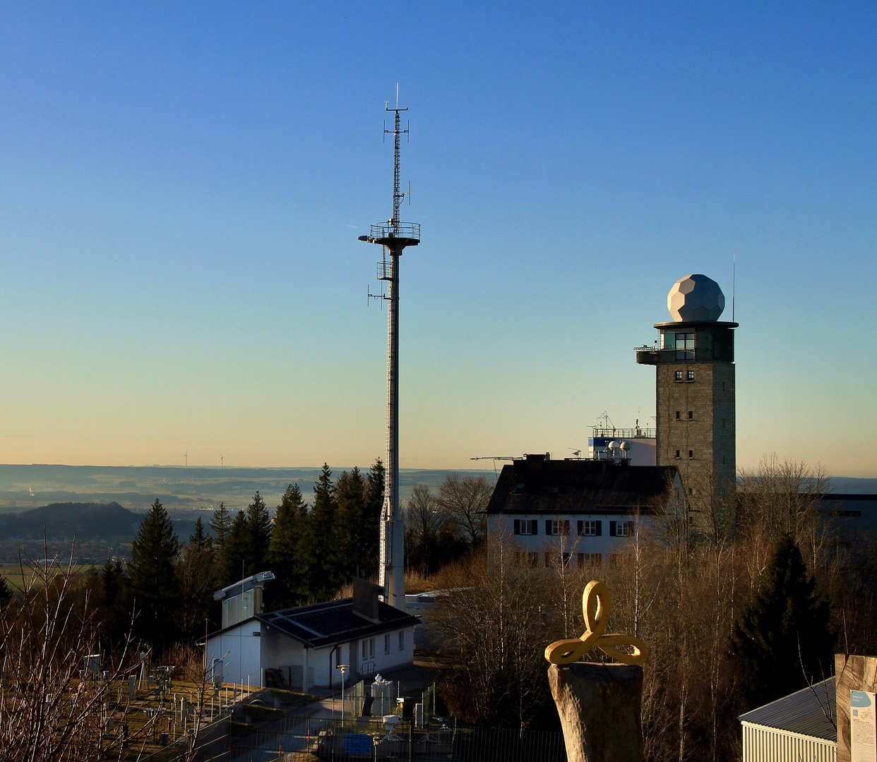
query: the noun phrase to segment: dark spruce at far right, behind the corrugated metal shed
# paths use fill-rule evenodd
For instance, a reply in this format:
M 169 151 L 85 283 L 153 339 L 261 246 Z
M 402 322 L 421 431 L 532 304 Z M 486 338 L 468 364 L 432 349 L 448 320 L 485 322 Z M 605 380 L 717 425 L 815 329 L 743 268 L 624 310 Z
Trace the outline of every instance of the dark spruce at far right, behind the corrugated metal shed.
M 791 534 L 781 534 L 732 638 L 750 707 L 831 674 L 828 623 L 828 603 L 816 595 L 801 549 Z

